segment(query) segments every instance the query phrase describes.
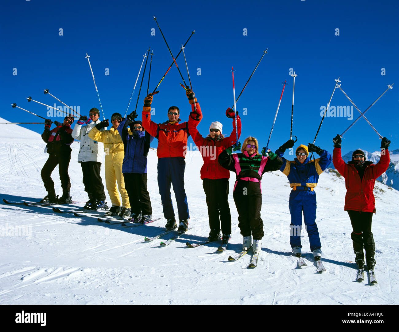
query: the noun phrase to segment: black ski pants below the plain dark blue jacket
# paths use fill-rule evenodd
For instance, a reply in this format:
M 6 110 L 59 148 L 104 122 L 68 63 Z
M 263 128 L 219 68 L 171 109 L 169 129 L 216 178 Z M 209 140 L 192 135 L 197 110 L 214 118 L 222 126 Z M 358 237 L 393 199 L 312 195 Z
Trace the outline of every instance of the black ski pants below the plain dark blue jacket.
M 152 215 L 150 194 L 147 190 L 147 173 L 123 173 L 123 177 L 131 213 Z

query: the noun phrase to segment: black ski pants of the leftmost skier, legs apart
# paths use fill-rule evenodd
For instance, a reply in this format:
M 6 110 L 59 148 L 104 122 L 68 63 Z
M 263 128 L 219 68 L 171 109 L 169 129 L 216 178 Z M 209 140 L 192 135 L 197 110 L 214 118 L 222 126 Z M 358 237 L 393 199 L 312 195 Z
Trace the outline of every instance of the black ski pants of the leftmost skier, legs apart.
M 41 169 L 41 179 L 43 180 L 44 187 L 47 192 L 54 191 L 54 182 L 51 180 L 51 173 L 55 166 L 58 165 L 59 180 L 61 180 L 61 187 L 63 191 L 71 189 L 71 181 L 69 180 L 68 167 L 71 160 L 71 154 L 49 154 L 49 158 Z

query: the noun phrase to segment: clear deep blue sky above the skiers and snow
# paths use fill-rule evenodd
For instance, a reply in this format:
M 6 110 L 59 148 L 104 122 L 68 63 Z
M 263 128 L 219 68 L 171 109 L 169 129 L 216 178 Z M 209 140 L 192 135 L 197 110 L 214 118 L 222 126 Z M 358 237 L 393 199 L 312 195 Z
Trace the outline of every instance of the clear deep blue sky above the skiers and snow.
M 28 103 L 26 97 L 44 104 L 79 106 L 87 115 L 99 101 L 91 77 L 86 53 L 93 67 L 97 88 L 105 111 L 126 111 L 128 100 L 142 62 L 150 46 L 154 51 L 150 92 L 168 69 L 172 58 L 158 27 L 156 16 L 172 53 L 176 57 L 191 31 L 186 58 L 193 90 L 203 111 L 199 132 L 206 136 L 212 121 L 223 123 L 223 133 L 231 132 L 231 120 L 225 116 L 233 105 L 231 67 L 235 72 L 236 96 L 243 88 L 263 50 L 268 53 L 237 102 L 243 122 L 241 142 L 251 135 L 265 146 L 269 137 L 282 85 L 287 80 L 269 147 L 277 149 L 289 139 L 292 77 L 295 80 L 293 134 L 297 145 L 312 142 L 321 121 L 320 107 L 332 94 L 334 79 L 340 76 L 342 89 L 364 111 L 387 88 L 396 83 L 365 115 L 391 148 L 397 149 L 399 65 L 399 4 L 392 1 L 14 1 L 2 2 L 0 28 L 0 117 L 15 122 L 41 122 L 41 119 L 12 103 L 46 117 L 45 106 Z M 396 22 L 396 23 L 395 23 Z M 59 35 L 63 29 L 63 35 Z M 151 35 L 155 29 L 155 35 Z M 246 29 L 246 30 L 245 30 Z M 339 35 L 338 30 L 339 29 Z M 245 31 L 247 31 L 245 35 Z M 188 83 L 183 54 L 177 60 Z M 14 68 L 16 68 L 17 75 Z M 109 75 L 105 75 L 109 68 Z M 146 95 L 146 75 L 138 102 L 138 113 Z M 198 68 L 201 75 L 198 75 Z M 384 69 L 382 69 L 384 68 Z M 144 65 L 143 65 L 144 69 Z M 385 75 L 381 75 L 385 73 Z M 141 75 L 129 110 L 134 110 Z M 395 81 L 396 80 L 396 81 Z M 152 119 L 166 121 L 169 106 L 188 118 L 190 105 L 172 67 L 154 96 Z M 331 106 L 349 106 L 349 100 L 337 89 Z M 242 115 L 247 109 L 247 115 Z M 129 111 L 129 112 L 130 112 Z M 332 151 L 332 137 L 344 132 L 359 115 L 326 117 L 316 145 Z M 57 118 L 51 118 L 56 120 Z M 39 120 L 39 121 L 38 121 Z M 42 125 L 27 125 L 42 132 Z M 188 141 L 193 143 L 191 139 Z M 157 142 L 154 140 L 153 147 Z M 343 152 L 355 148 L 378 150 L 377 134 L 364 119 L 344 135 Z

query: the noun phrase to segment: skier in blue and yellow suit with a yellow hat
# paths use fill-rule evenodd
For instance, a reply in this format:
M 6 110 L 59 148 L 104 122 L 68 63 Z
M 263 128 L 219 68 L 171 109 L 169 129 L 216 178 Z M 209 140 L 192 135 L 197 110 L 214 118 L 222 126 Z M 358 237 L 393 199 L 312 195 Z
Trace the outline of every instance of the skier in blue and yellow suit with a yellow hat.
M 308 146 L 300 145 L 296 148 L 296 158 L 286 160 L 283 158 L 287 148 L 294 146 L 292 139 L 288 140 L 276 150 L 276 154 L 283 160 L 280 171 L 283 172 L 292 188 L 288 207 L 291 214 L 290 245 L 297 256 L 301 254 L 300 230 L 302 228 L 302 211 L 306 231 L 309 236 L 310 250 L 314 257 L 321 257 L 321 243 L 316 225 L 316 192 L 318 178 L 332 161 L 331 154 L 320 147 L 309 143 Z M 310 160 L 309 152 L 316 152 L 320 158 Z

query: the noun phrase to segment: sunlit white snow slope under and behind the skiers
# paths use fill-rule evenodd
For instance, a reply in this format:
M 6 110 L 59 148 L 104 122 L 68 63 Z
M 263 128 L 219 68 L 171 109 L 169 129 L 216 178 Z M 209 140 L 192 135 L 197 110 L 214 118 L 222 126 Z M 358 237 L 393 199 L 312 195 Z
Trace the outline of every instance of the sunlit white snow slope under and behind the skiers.
M 17 125 L 0 133 L 1 197 L 36 201 L 45 196 L 40 170 L 47 160 L 40 135 Z M 11 139 L 10 139 L 11 138 Z M 85 202 L 79 142 L 72 144 L 69 165 L 71 195 Z M 148 154 L 148 190 L 154 218 L 162 216 L 156 181 L 156 150 Z M 397 202 L 399 192 L 376 183 L 377 213 L 373 217 L 376 241 L 377 285 L 354 282 L 356 265 L 344 211 L 345 184 L 335 170 L 320 176 L 316 188 L 317 223 L 326 272 L 319 274 L 309 251 L 306 232 L 302 251 L 308 267 L 296 268 L 289 245 L 290 188 L 281 172 L 263 177 L 263 250 L 258 267 L 247 269 L 250 255 L 237 262 L 227 258 L 242 248 L 233 201 L 234 176 L 229 203 L 233 236 L 222 254 L 218 243 L 186 247 L 203 240 L 208 232 L 207 207 L 199 169 L 198 152 L 186 157 L 186 192 L 190 226 L 182 238 L 167 247 L 144 236 L 160 232 L 165 220 L 122 228 L 99 223 L 97 217 L 54 214 L 50 207 L 1 205 L 0 303 L 1 304 L 398 304 L 399 269 Z M 103 170 L 102 170 L 103 171 Z M 61 193 L 57 169 L 53 172 Z M 104 180 L 104 172 L 103 172 Z M 173 197 L 173 194 L 172 194 Z M 107 199 L 108 194 L 107 194 Z M 83 204 L 75 204 L 83 206 Z M 175 211 L 177 211 L 175 205 Z M 18 234 L 19 232 L 19 234 Z

